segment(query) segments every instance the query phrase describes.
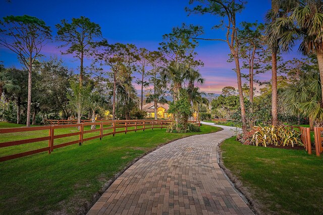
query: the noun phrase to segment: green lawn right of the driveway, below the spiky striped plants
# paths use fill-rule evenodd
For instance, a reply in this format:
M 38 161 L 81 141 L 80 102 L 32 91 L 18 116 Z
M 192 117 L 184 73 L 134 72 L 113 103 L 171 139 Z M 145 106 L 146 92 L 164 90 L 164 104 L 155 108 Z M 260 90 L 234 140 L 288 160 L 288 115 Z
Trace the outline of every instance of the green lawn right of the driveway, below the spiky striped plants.
M 305 150 L 246 146 L 225 140 L 224 165 L 242 181 L 262 214 L 323 214 L 323 158 Z

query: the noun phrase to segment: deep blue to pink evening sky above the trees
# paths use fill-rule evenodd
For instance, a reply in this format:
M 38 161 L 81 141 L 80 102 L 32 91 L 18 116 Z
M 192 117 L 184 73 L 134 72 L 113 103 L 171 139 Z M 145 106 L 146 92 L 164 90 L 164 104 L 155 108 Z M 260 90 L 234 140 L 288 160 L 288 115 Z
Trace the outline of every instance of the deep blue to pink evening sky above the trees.
M 0 2 L 0 17 L 8 15 L 35 16 L 45 21 L 51 27 L 53 42 L 47 44 L 42 54 L 47 58 L 58 55 L 60 50 L 55 42 L 55 24 L 62 19 L 71 21 L 80 16 L 88 17 L 92 22 L 101 26 L 102 36 L 108 42 L 133 43 L 138 48 L 145 47 L 156 50 L 162 35 L 170 33 L 172 27 L 182 23 L 196 24 L 204 27 L 205 37 L 224 38 L 223 30 L 211 30 L 218 24 L 219 18 L 213 16 L 187 16 L 185 7 L 188 0 L 142 0 L 142 1 L 17 1 Z M 249 0 L 242 14 L 237 15 L 237 23 L 241 21 L 263 22 L 264 15 L 271 7 L 270 0 Z M 201 91 L 220 93 L 225 86 L 237 86 L 236 74 L 232 70 L 233 63 L 228 63 L 229 48 L 226 43 L 219 41 L 200 41 L 196 48 L 197 58 L 204 62 L 200 72 L 206 82 L 200 86 Z M 284 55 L 285 56 L 285 55 Z M 296 51 L 286 55 L 285 59 L 301 57 Z M 62 55 L 66 65 L 74 68 L 77 73 L 79 61 L 72 55 Z M 0 60 L 6 67 L 21 67 L 16 55 L 10 50 L 0 47 Z M 244 71 L 246 72 L 246 71 Z M 256 77 L 260 80 L 270 80 L 270 72 Z

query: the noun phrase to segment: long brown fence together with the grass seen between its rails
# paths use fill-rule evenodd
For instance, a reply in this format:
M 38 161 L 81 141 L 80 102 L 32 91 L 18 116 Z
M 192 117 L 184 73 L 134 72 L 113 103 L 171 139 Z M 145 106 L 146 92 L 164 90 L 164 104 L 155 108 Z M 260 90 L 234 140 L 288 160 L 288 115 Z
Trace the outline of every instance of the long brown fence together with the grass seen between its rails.
M 200 121 L 191 121 L 200 125 Z M 85 141 L 117 133 L 165 128 L 171 120 L 108 120 L 80 124 L 0 128 L 0 162 L 41 152 L 83 144 Z M 91 129 L 91 126 L 96 126 Z

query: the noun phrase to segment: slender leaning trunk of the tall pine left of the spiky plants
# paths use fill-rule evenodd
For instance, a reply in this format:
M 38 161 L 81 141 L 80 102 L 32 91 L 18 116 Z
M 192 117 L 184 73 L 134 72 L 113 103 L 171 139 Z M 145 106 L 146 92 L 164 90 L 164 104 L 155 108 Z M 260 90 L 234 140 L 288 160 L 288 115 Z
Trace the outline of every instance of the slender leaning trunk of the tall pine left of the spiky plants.
M 231 51 L 232 53 L 232 51 Z M 244 106 L 244 98 L 242 91 L 242 83 L 241 83 L 241 71 L 240 71 L 240 63 L 238 55 L 234 55 L 235 63 L 236 63 L 236 71 L 237 71 L 237 80 L 238 80 L 238 91 L 239 91 L 239 101 L 240 101 L 240 109 L 241 109 L 241 121 L 242 121 L 242 133 L 247 133 L 247 120 L 246 120 L 246 110 Z

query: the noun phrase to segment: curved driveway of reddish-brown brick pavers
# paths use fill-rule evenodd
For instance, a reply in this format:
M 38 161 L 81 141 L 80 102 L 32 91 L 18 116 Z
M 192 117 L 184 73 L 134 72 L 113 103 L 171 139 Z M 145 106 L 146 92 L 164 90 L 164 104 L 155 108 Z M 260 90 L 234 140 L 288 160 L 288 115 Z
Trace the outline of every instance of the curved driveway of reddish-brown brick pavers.
M 253 214 L 217 163 L 219 142 L 232 136 L 231 127 L 221 127 L 224 130 L 179 139 L 144 156 L 88 214 Z

